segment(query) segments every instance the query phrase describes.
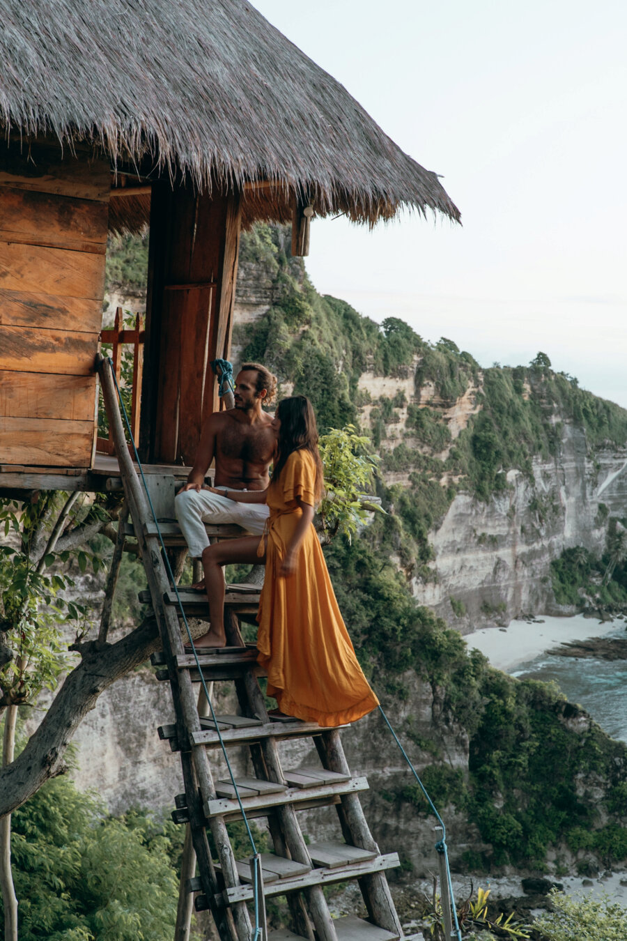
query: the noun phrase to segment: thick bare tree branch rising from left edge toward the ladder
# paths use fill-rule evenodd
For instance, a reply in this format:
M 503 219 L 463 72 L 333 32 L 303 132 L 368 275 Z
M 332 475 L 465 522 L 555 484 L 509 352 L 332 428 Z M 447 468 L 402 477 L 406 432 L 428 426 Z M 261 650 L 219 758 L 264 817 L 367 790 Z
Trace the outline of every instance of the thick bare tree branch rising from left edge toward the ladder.
M 0 772 L 0 818 L 24 804 L 50 777 L 63 774 L 71 737 L 100 694 L 148 660 L 161 644 L 154 620 L 116 644 L 74 645 L 83 661 L 64 680 L 22 754 Z

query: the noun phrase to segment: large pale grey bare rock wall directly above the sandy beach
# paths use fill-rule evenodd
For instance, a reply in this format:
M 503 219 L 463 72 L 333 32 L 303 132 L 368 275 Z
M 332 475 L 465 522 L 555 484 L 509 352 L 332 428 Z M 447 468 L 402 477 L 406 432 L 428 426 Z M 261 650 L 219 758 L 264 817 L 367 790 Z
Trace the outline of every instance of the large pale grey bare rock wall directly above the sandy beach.
M 558 454 L 534 458 L 533 482 L 509 470 L 509 488 L 481 502 L 458 494 L 431 533 L 435 580 L 414 580 L 420 603 L 464 633 L 479 622 L 507 623 L 521 614 L 574 614 L 557 605 L 550 564 L 565 549 L 601 554 L 607 521 L 627 506 L 627 449 L 603 448 L 592 457 L 581 428 L 564 423 Z M 458 616 L 450 598 L 461 601 Z

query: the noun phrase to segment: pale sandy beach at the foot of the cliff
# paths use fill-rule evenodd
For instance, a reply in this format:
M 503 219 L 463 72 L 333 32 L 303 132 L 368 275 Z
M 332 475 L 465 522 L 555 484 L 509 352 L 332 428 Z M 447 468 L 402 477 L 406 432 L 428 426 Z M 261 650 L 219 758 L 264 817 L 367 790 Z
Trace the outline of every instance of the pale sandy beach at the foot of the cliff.
M 483 628 L 466 634 L 469 649 L 476 647 L 499 670 L 511 673 L 520 663 L 538 657 L 545 650 L 565 641 L 583 641 L 604 637 L 617 630 L 625 621 L 597 621 L 575 614 L 572 617 L 539 618 L 539 623 L 511 621 L 508 628 Z

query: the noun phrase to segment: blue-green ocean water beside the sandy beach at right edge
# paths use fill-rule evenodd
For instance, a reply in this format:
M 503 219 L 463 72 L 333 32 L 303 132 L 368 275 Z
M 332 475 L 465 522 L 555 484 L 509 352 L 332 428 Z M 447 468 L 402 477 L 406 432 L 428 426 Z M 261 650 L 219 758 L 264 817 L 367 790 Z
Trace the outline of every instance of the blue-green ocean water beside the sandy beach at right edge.
M 624 624 L 605 634 L 625 635 Z M 627 742 L 627 661 L 541 653 L 508 672 L 512 677 L 556 680 L 570 702 L 583 706 L 613 739 Z

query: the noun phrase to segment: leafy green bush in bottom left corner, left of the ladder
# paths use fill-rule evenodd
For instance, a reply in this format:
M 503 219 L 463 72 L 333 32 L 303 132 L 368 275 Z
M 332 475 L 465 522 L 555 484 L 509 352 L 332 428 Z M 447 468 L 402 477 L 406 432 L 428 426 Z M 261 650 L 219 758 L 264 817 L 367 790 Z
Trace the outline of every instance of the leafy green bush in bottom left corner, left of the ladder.
M 69 779 L 48 781 L 12 816 L 20 941 L 169 941 L 182 836 L 151 814 L 107 817 Z

